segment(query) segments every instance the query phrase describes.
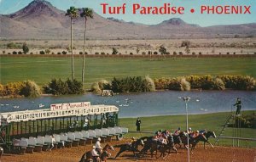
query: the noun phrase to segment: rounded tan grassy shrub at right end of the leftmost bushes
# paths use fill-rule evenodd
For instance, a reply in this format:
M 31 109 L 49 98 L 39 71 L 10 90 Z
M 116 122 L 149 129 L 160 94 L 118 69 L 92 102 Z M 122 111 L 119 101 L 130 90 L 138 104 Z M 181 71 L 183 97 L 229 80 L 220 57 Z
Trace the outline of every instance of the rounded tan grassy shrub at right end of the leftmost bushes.
M 34 81 L 25 81 L 25 86 L 20 90 L 20 95 L 25 97 L 38 97 L 41 95 L 40 87 Z

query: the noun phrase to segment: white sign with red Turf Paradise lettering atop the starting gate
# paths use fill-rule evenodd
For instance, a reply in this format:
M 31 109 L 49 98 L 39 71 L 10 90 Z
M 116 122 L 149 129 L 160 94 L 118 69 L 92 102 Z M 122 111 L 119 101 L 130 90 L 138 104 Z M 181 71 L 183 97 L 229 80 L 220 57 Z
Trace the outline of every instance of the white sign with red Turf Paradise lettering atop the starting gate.
M 90 102 L 80 102 L 80 103 L 56 103 L 50 105 L 50 110 L 64 110 L 64 109 L 84 109 L 90 108 Z

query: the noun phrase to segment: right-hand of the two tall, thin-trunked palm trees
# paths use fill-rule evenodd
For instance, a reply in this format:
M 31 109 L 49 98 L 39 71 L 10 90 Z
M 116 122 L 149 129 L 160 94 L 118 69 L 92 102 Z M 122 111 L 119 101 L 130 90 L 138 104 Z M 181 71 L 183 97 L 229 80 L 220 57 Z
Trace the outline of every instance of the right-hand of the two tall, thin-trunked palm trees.
M 82 18 L 84 18 L 84 54 L 83 54 L 83 69 L 82 69 L 82 83 L 84 86 L 84 66 L 85 66 L 85 45 L 86 45 L 86 27 L 88 18 L 93 19 L 93 11 L 91 8 L 82 8 L 82 12 L 80 14 Z

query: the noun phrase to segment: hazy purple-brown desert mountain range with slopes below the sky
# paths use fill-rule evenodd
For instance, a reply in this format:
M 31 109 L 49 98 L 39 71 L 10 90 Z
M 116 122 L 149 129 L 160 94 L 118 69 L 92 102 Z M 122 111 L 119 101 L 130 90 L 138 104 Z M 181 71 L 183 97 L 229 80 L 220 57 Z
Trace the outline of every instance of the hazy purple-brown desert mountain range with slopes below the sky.
M 84 19 L 73 21 L 74 39 L 83 39 Z M 0 38 L 68 39 L 70 19 L 65 11 L 45 0 L 34 0 L 13 14 L 0 14 Z M 89 39 L 170 39 L 256 36 L 256 23 L 201 27 L 179 18 L 157 25 L 143 25 L 114 18 L 103 18 L 94 12 L 88 20 Z

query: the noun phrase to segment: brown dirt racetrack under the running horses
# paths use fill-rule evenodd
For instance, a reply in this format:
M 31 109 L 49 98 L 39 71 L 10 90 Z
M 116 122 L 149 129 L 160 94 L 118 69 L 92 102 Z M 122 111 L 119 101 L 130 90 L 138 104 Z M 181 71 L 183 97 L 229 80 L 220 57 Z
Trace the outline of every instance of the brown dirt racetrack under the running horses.
M 120 142 L 111 142 L 111 145 L 124 143 L 125 141 Z M 106 143 L 102 143 L 102 146 L 105 146 Z M 92 146 L 79 146 L 73 148 L 62 148 L 55 149 L 51 152 L 42 152 L 42 153 L 33 153 L 33 154 L 3 154 L 1 162 L 79 162 L 80 157 L 84 154 L 85 151 L 90 150 Z M 179 154 L 171 153 L 166 156 L 166 161 L 187 161 L 187 152 L 184 148 L 177 148 Z M 115 148 L 115 151 L 109 151 L 112 154 L 112 158 L 108 159 L 110 162 L 129 162 L 136 161 L 133 158 L 131 152 L 125 152 L 120 155 L 118 159 L 113 159 L 115 154 L 119 151 L 119 148 Z M 164 159 L 155 159 L 155 157 L 150 158 L 149 155 L 141 157 L 138 161 L 165 161 Z M 232 161 L 232 162 L 256 162 L 256 149 L 255 148 L 230 148 L 230 147 L 215 147 L 210 148 L 207 146 L 207 150 L 201 145 L 196 146 L 194 154 L 190 154 L 191 162 L 205 162 L 205 161 Z

